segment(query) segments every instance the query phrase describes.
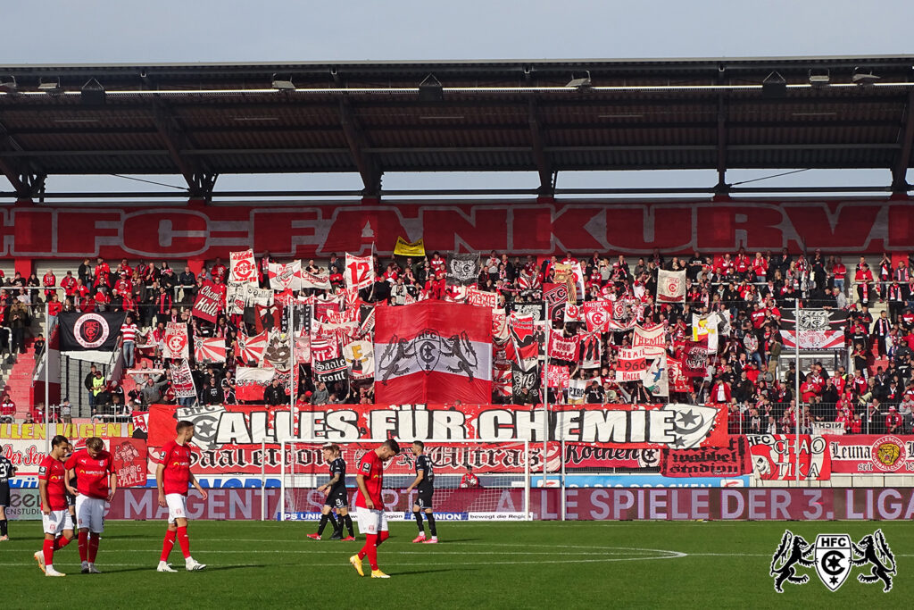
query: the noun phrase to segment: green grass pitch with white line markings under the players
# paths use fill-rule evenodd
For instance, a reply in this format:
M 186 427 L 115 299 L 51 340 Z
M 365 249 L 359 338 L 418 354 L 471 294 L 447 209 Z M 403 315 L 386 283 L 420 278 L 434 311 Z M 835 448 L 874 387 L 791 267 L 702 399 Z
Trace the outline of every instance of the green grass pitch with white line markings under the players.
M 40 524 L 12 522 L 13 540 L 0 542 L 0 607 L 890 608 L 910 607 L 914 595 L 907 522 L 440 522 L 438 545 L 411 544 L 415 524 L 391 523 L 378 551 L 387 581 L 359 578 L 349 565 L 361 541 L 306 540 L 315 526 L 194 522 L 191 551 L 209 567 L 187 573 L 175 545 L 170 560 L 181 571 L 156 573 L 165 524 L 109 521 L 103 573 L 79 573 L 74 540 L 54 562 L 68 576 L 52 579 L 32 559 Z M 898 562 L 891 592 L 858 583 L 859 568 L 836 593 L 813 568 L 802 569 L 809 583 L 774 592 L 769 566 L 785 529 L 860 540 L 879 527 Z

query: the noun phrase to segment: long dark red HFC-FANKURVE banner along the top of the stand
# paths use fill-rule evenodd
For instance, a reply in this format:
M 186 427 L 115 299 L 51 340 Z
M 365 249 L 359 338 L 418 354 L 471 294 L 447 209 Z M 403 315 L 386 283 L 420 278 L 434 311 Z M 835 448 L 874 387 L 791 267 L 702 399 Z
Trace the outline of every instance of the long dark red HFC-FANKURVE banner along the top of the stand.
M 85 205 L 0 209 L 0 256 L 41 259 L 214 259 L 252 248 L 276 258 L 332 252 L 393 253 L 397 238 L 425 250 L 514 254 L 791 251 L 909 251 L 914 207 L 907 200 L 843 198 L 540 202 L 275 201 L 173 207 Z M 353 230 L 354 227 L 361 230 Z M 15 229 L 14 229 L 15 228 Z M 247 262 L 247 261 L 246 261 Z M 243 273 L 242 273 L 243 272 Z M 233 269 L 256 281 L 256 269 Z M 251 280 L 252 278 L 252 280 Z

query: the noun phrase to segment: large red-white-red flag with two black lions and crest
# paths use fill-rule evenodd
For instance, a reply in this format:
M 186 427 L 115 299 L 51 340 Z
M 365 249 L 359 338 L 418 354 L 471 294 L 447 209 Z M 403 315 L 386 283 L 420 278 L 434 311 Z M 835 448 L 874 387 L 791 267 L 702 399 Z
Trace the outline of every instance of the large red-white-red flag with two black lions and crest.
M 492 400 L 492 309 L 442 301 L 380 307 L 377 402 Z

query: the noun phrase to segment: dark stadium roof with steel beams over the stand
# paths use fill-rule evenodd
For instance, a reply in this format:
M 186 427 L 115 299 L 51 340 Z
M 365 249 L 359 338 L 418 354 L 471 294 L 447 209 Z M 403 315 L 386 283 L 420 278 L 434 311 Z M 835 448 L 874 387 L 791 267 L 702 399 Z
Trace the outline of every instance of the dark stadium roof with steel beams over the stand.
M 220 174 L 309 172 L 358 172 L 377 196 L 385 173 L 430 171 L 534 171 L 530 191 L 552 194 L 561 171 L 636 169 L 714 169 L 707 190 L 735 192 L 728 168 L 887 168 L 884 190 L 907 192 L 912 66 L 914 56 L 6 66 L 0 171 L 7 197 L 68 196 L 44 192 L 49 175 L 175 174 L 208 197 Z

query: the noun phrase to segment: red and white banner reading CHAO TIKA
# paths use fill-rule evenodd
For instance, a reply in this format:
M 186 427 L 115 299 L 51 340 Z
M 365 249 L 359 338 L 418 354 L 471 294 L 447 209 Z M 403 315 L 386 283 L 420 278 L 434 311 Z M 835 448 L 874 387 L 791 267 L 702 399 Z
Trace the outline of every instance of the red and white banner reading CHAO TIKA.
M 831 455 L 823 436 L 800 434 L 799 444 L 795 434 L 748 434 L 746 438 L 752 468 L 763 481 L 822 481 L 832 477 Z

